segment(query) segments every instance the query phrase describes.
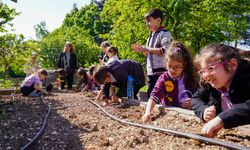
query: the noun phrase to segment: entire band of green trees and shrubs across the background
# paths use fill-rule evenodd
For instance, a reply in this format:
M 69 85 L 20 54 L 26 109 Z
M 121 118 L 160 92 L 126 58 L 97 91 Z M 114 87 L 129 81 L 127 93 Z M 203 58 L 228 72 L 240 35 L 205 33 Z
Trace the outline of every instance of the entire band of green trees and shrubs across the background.
M 32 51 L 39 52 L 42 67 L 55 69 L 66 41 L 74 44 L 79 67 L 97 63 L 103 40 L 116 46 L 122 59 L 145 62 L 145 56 L 134 52 L 131 44 L 145 45 L 150 32 L 144 14 L 152 8 L 163 11 L 163 26 L 194 53 L 212 42 L 240 41 L 250 27 L 249 0 L 92 0 L 80 9 L 74 7 L 61 27 L 51 33 L 45 22 L 34 26 L 39 42 L 24 41 L 22 35 L 2 34 L 0 71 L 21 73 Z M 17 14 L 0 1 L 0 32 Z

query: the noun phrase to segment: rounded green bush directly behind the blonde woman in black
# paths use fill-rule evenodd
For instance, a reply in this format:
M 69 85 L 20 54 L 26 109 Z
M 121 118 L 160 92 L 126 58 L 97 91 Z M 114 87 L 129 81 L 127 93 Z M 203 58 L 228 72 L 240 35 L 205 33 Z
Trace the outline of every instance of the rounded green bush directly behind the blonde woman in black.
M 42 67 L 56 68 L 59 54 L 63 51 L 66 41 L 71 41 L 75 46 L 78 66 L 89 66 L 98 60 L 96 56 L 99 47 L 90 35 L 81 28 L 61 27 L 50 33 L 40 43 L 41 51 L 39 55 L 43 62 Z

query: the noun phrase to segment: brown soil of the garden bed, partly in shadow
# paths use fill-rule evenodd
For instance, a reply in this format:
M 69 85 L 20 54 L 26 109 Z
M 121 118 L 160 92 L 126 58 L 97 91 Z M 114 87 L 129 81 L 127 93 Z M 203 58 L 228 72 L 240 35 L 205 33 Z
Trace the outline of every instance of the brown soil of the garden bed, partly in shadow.
M 123 125 L 109 118 L 85 98 L 92 99 L 94 96 L 93 93 L 55 92 L 44 98 L 45 103 L 39 98 L 16 95 L 12 99 L 11 96 L 2 96 L 0 150 L 20 149 L 33 139 L 42 127 L 48 106 L 51 112 L 45 130 L 30 149 L 226 149 L 169 133 Z M 143 124 L 141 117 L 144 107 L 117 108 L 111 104 L 104 108 L 120 119 Z M 192 115 L 157 109 L 153 121 L 147 124 L 195 134 L 200 134 L 203 126 Z M 250 148 L 249 135 L 250 129 L 247 127 L 223 129 L 215 139 Z

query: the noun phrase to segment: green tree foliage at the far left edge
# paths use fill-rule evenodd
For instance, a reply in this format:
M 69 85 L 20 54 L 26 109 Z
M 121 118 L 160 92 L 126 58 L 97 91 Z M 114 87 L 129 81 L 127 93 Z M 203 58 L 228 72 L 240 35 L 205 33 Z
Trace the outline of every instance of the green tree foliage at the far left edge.
M 12 26 L 11 21 L 18 14 L 15 9 L 10 9 L 0 1 L 0 73 L 4 79 L 7 72 L 13 76 L 23 74 L 22 66 L 30 50 L 23 35 L 5 33 L 7 26 Z

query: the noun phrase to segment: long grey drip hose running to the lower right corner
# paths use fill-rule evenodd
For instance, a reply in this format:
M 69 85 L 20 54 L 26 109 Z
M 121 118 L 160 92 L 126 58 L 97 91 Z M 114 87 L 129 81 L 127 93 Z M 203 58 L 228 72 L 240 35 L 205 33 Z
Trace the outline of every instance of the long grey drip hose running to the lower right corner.
M 109 112 L 107 112 L 104 108 L 102 108 L 99 104 L 97 104 L 96 102 L 90 100 L 89 98 L 83 96 L 84 99 L 86 99 L 88 102 L 94 104 L 96 107 L 98 107 L 99 109 L 101 109 L 102 112 L 104 112 L 107 116 L 109 116 L 111 119 L 118 121 L 124 125 L 131 125 L 131 126 L 136 126 L 136 127 L 140 127 L 140 128 L 144 128 L 144 129 L 151 129 L 151 130 L 156 130 L 156 131 L 161 131 L 161 132 L 166 132 L 166 133 L 171 133 L 177 136 L 181 136 L 181 137 L 185 137 L 185 138 L 190 138 L 190 139 L 194 139 L 200 142 L 204 142 L 204 143 L 210 143 L 210 144 L 214 144 L 214 145 L 219 145 L 219 146 L 223 146 L 229 149 L 235 149 L 235 150 L 250 150 L 250 148 L 238 145 L 238 144 L 231 144 L 231 143 L 227 143 L 224 141 L 219 141 L 219 140 L 215 140 L 215 139 L 211 139 L 211 138 L 207 138 L 204 136 L 200 136 L 197 134 L 192 134 L 192 133 L 184 133 L 184 132 L 179 132 L 179 131 L 175 131 L 175 130 L 171 130 L 171 129 L 166 129 L 166 128 L 159 128 L 159 127 L 154 127 L 154 126 L 150 126 L 150 125 L 144 125 L 144 124 L 139 124 L 139 123 L 133 123 L 133 122 L 129 122 L 126 120 L 122 120 L 119 119 L 118 117 L 110 114 Z

